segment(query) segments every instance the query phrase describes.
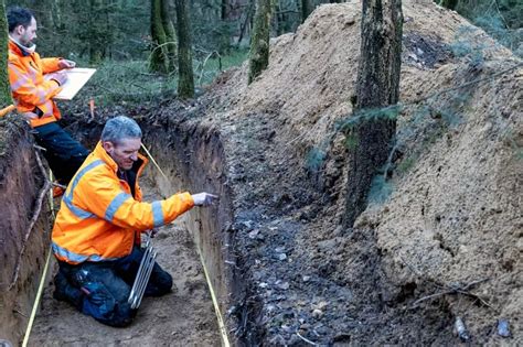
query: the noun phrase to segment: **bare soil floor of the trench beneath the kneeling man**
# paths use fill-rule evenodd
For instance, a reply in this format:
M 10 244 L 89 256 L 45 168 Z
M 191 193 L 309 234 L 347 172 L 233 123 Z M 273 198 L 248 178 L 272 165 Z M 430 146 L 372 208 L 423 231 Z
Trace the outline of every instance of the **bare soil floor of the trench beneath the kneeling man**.
M 141 186 L 145 200 L 161 198 L 150 182 Z M 173 278 L 172 293 L 145 297 L 129 327 L 113 328 L 54 300 L 54 288 L 47 285 L 29 345 L 220 346 L 216 316 L 192 236 L 178 224 L 158 228 L 152 240 L 158 263 Z

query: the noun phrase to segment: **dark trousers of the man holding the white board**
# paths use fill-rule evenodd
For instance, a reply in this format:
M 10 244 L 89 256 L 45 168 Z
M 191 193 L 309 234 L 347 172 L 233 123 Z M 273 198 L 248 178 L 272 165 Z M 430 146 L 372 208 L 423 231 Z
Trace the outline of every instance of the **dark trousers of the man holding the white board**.
M 34 131 L 56 181 L 67 185 L 89 152 L 56 122 L 36 127 Z

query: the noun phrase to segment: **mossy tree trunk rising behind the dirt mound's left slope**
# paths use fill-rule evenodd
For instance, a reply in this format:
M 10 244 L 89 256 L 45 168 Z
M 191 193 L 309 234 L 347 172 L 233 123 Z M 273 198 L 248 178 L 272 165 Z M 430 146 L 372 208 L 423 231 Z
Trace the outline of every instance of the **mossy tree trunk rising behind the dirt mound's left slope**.
M 250 39 L 248 84 L 269 65 L 270 0 L 256 0 L 253 37 Z

